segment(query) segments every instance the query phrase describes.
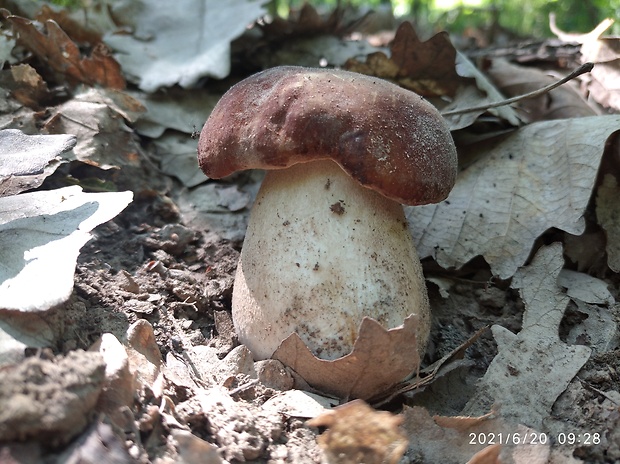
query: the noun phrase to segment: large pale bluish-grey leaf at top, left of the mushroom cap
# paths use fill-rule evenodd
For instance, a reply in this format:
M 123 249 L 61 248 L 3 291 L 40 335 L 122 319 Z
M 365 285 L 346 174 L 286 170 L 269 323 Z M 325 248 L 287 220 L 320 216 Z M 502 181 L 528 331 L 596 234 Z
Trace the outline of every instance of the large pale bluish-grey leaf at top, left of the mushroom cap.
M 230 42 L 264 14 L 260 0 L 140 0 L 119 2 L 115 16 L 134 18 L 133 36 L 108 34 L 105 41 L 129 79 L 147 92 L 230 72 Z M 127 14 L 124 9 L 133 9 Z M 191 14 L 188 15 L 188 12 Z

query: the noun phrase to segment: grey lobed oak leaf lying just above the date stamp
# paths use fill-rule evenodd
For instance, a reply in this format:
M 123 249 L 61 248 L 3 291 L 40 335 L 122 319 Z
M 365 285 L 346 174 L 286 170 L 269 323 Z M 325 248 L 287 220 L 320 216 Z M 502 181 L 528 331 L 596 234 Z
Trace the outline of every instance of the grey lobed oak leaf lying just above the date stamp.
M 515 274 L 512 285 L 525 304 L 523 328 L 515 335 L 493 326 L 498 354 L 465 414 L 480 414 L 495 403 L 502 418 L 541 430 L 558 396 L 589 359 L 590 348 L 567 345 L 559 337 L 570 299 L 557 284 L 563 265 L 562 245 L 555 243 Z

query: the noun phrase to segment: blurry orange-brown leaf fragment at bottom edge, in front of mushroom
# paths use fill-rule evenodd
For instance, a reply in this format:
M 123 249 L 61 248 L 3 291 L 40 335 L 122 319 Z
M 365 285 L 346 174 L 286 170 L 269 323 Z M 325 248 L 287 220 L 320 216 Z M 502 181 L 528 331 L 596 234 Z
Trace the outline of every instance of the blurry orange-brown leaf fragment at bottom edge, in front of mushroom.
M 317 441 L 329 464 L 396 464 L 407 449 L 402 422 L 402 416 L 354 400 L 306 423 L 328 428 Z

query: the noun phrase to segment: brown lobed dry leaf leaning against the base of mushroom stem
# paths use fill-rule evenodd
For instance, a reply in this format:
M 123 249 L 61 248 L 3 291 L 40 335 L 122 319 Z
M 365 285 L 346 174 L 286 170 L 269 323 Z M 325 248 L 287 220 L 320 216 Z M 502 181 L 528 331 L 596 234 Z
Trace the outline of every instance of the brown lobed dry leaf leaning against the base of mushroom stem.
M 417 325 L 415 315 L 407 317 L 402 326 L 389 330 L 364 317 L 353 351 L 333 361 L 314 356 L 299 335 L 293 333 L 280 344 L 273 358 L 296 371 L 317 390 L 340 398 L 368 399 L 385 392 L 418 368 Z

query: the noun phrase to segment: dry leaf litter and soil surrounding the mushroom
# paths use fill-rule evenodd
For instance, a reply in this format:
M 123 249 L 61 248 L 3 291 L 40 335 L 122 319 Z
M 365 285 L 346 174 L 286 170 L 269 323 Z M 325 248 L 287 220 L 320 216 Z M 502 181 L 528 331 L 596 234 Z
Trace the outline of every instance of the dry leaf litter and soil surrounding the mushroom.
M 609 111 L 617 89 L 607 80 L 617 72 L 614 39 L 589 36 L 581 45 L 583 56 L 570 64 L 596 58 L 604 66 L 583 76 L 571 99 L 447 116 L 462 164 L 457 187 L 438 206 L 407 211 L 427 257 L 434 312 L 423 367 L 440 367 L 426 380 L 428 370 L 414 374 L 388 396 L 381 408 L 391 412 L 359 402 L 334 408 L 340 400 L 317 391 L 321 379 L 291 369 L 296 361 L 254 362 L 236 343 L 233 276 L 261 176 L 204 178 L 190 137 L 218 95 L 249 72 L 233 58 L 248 66 L 298 64 L 314 44 L 320 53 L 311 59 L 321 66 L 343 64 L 350 53 L 347 66 L 434 95 L 447 112 L 496 102 L 498 89 L 511 85 L 506 79 L 519 82 L 524 74 L 494 72 L 506 66 L 500 60 L 480 66 L 446 34 L 423 41 L 410 25 L 394 28 L 388 58 L 387 49 L 368 46 L 370 36 L 347 37 L 359 23 L 345 25 L 339 10 L 322 18 L 305 7 L 297 19 L 247 29 L 262 7 L 237 3 L 241 16 L 207 2 L 207 14 L 193 19 L 207 37 L 221 14 L 218 26 L 227 32 L 208 46 L 194 44 L 209 59 L 192 70 L 185 68 L 198 56 L 186 59 L 191 44 L 161 46 L 167 33 L 179 37 L 153 26 L 161 11 L 125 15 L 136 18 L 129 29 L 114 24 L 114 13 L 148 2 L 93 6 L 97 28 L 90 32 L 79 14 L 69 21 L 62 11 L 3 12 L 9 27 L 0 35 L 0 128 L 20 130 L 3 134 L 26 141 L 31 159 L 27 169 L 24 159 L 7 162 L 14 144 L 0 143 L 0 154 L 9 155 L 0 158 L 9 185 L 3 200 L 12 205 L 1 213 L 0 368 L 7 375 L 0 400 L 7 407 L 0 408 L 0 456 L 187 463 L 620 458 L 613 163 L 620 120 Z M 171 15 L 181 14 L 179 5 L 170 5 Z M 231 41 L 242 34 L 235 49 Z M 266 60 L 283 38 L 290 47 Z M 516 61 L 525 61 L 523 53 Z M 553 66 L 568 72 L 559 61 Z M 205 83 L 207 76 L 221 80 Z M 124 91 L 125 80 L 139 90 Z M 600 97 L 586 102 L 584 88 Z M 584 117 L 593 108 L 597 115 Z M 549 120 L 557 111 L 564 119 Z M 35 140 L 43 141 L 41 157 Z M 22 274 L 23 286 L 14 287 Z M 360 353 L 362 364 L 372 364 L 372 352 Z M 384 388 L 364 376 L 360 382 L 368 396 L 394 393 L 377 391 Z M 336 396 L 347 396 L 343 387 Z M 571 433 L 596 442 L 560 446 Z

